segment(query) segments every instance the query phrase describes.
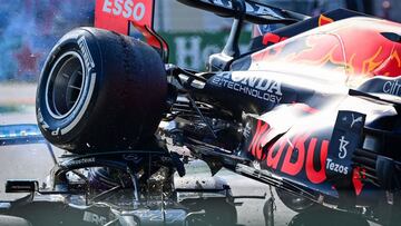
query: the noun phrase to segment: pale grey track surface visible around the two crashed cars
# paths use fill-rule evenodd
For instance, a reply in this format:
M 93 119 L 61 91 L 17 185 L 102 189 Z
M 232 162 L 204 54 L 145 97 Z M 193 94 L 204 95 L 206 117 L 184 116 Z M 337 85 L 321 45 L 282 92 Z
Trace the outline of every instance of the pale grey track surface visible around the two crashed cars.
M 11 108 L 17 110 L 17 112 L 0 111 L 0 125 L 35 124 L 33 104 L 33 86 L 0 85 L 0 109 L 9 109 L 1 108 L 4 106 L 17 106 L 17 108 Z M 57 153 L 59 155 L 62 151 L 58 150 Z M 21 196 L 4 194 L 3 185 L 7 179 L 38 179 L 43 181 L 52 165 L 52 159 L 47 153 L 45 145 L 10 146 L 7 148 L 0 146 L 0 199 L 11 200 Z M 211 177 L 211 173 L 205 164 L 189 167 L 187 171 L 189 175 L 196 175 L 196 177 Z M 266 194 L 264 199 L 236 199 L 236 203 L 242 203 L 242 205 L 236 207 L 238 225 L 266 225 L 263 209 L 266 200 L 271 197 L 267 185 L 238 176 L 228 170 L 221 170 L 216 176 L 222 177 L 228 183 L 234 196 L 263 196 Z M 300 215 L 285 207 L 276 195 L 274 197 L 276 208 L 273 212 L 274 218 L 268 218 L 273 223 L 270 225 L 354 225 L 348 216 L 334 212 L 314 212 Z M 370 223 L 370 225 L 375 224 Z

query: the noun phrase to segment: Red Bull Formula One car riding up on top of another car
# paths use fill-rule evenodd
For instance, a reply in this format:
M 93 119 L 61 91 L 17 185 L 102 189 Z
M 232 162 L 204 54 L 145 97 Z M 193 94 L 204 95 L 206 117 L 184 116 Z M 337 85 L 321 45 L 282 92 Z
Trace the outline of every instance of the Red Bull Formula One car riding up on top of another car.
M 234 18 L 207 71 L 168 63 L 146 0 L 97 1 L 97 28 L 52 49 L 37 118 L 47 140 L 77 155 L 63 167 L 110 167 L 105 156 L 127 151 L 164 159 L 185 147 L 213 174 L 225 167 L 276 187 L 296 212 L 324 206 L 397 225 L 401 24 L 343 9 L 307 17 L 262 0 L 178 1 Z M 239 52 L 246 21 L 285 26 Z M 146 43 L 127 36 L 133 27 Z M 138 164 L 130 170 L 146 181 L 149 165 Z

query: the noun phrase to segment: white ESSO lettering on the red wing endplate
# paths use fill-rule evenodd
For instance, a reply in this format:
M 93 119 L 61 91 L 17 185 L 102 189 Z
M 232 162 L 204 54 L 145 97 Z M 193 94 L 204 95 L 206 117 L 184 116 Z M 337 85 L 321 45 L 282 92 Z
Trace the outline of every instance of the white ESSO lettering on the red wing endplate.
M 144 2 L 136 0 L 105 0 L 101 10 L 134 21 L 143 20 L 146 14 Z

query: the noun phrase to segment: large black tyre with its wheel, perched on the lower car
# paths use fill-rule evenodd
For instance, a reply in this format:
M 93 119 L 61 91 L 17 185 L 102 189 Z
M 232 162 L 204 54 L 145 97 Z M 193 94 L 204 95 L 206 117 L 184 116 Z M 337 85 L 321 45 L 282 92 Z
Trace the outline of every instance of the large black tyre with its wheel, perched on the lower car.
M 37 120 L 47 140 L 71 153 L 133 149 L 154 136 L 166 95 L 156 50 L 116 32 L 78 28 L 43 66 Z

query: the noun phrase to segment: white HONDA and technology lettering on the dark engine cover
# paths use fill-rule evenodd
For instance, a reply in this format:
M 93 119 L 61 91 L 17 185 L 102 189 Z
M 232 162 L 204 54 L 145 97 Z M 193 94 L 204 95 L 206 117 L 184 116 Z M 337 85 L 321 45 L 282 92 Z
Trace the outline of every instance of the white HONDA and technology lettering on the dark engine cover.
M 245 73 L 218 73 L 212 79 L 212 83 L 273 104 L 278 104 L 283 96 L 280 81 Z

